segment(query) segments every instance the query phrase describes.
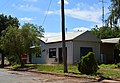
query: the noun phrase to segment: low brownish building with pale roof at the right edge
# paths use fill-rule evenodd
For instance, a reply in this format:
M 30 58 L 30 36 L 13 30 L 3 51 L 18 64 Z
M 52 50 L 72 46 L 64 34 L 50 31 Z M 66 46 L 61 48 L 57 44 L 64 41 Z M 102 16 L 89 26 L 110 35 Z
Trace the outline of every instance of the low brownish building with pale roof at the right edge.
M 115 63 L 120 61 L 120 51 L 116 48 L 116 44 L 119 43 L 120 38 L 102 39 L 101 54 L 102 62 Z

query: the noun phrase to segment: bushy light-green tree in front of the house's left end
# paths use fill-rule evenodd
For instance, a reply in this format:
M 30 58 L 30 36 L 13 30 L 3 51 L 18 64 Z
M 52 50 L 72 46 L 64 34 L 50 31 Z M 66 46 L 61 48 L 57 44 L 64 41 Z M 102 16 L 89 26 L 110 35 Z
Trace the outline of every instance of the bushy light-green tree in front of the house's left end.
M 41 31 L 38 31 L 37 27 L 37 25 L 27 23 L 20 29 L 10 26 L 2 33 L 2 35 L 4 35 L 1 37 L 2 50 L 8 55 L 8 58 L 13 57 L 22 67 L 24 63 L 21 55 L 29 55 L 31 53 L 30 47 L 33 45 L 37 47 L 40 46 L 40 40 L 37 37 L 43 36 L 44 29 L 41 28 Z M 40 48 L 37 48 L 37 50 L 32 50 L 32 52 L 39 50 Z

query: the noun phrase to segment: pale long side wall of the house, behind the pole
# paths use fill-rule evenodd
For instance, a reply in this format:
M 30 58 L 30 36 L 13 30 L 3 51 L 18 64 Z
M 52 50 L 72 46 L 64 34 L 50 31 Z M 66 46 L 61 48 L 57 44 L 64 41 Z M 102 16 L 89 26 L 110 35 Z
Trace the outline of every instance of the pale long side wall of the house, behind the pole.
M 72 41 L 66 42 L 67 47 L 67 63 L 73 64 L 73 43 Z M 38 63 L 38 64 L 52 64 L 52 63 L 59 63 L 59 48 L 62 48 L 62 42 L 57 43 L 50 43 L 50 44 L 44 44 L 41 45 L 41 50 L 44 50 L 42 52 L 41 57 L 36 57 L 35 55 L 32 56 L 32 63 Z M 56 48 L 56 58 L 57 62 L 55 62 L 55 58 L 49 58 L 49 48 Z

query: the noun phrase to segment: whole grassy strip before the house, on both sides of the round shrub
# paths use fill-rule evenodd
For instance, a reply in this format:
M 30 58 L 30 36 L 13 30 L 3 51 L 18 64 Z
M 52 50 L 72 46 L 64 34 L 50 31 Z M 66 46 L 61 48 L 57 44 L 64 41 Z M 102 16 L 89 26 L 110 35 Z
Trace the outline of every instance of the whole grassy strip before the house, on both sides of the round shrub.
M 28 67 L 34 67 L 35 71 L 42 71 L 42 72 L 49 72 L 49 73 L 63 73 L 63 65 L 62 64 L 26 64 Z M 85 75 L 81 74 L 78 69 L 77 65 L 68 65 L 68 75 L 78 76 L 78 77 L 89 77 L 89 78 L 96 78 L 103 76 L 105 78 L 120 78 L 120 69 L 118 65 L 115 64 L 101 64 L 99 65 L 99 70 L 95 75 Z

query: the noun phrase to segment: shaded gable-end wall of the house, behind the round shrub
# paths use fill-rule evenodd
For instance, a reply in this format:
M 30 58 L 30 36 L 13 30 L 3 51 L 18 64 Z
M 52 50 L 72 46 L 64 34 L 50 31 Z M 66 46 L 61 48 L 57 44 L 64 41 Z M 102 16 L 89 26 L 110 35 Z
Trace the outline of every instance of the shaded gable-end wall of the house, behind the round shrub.
M 85 32 L 76 37 L 73 40 L 74 63 L 77 63 L 80 60 L 80 47 L 92 47 L 93 52 L 96 55 L 96 59 L 100 61 L 100 41 L 101 40 L 95 35 L 91 34 L 91 32 Z

